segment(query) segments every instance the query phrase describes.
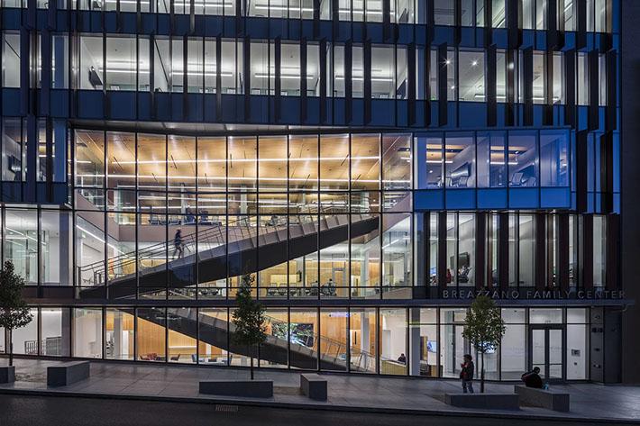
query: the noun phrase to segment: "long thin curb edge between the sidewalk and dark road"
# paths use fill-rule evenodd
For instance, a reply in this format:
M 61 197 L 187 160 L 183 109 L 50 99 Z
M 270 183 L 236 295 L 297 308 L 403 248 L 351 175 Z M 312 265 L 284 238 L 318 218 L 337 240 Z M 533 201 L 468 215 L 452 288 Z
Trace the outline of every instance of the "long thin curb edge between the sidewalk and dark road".
M 59 396 L 73 398 L 91 398 L 91 399 L 114 399 L 127 401 L 146 401 L 155 403 L 207 403 L 221 405 L 239 405 L 248 407 L 265 407 L 265 408 L 284 408 L 294 410 L 320 410 L 327 412 L 368 412 L 380 414 L 404 414 L 404 415 L 434 415 L 442 417 L 473 417 L 473 418 L 489 418 L 489 419 L 522 419 L 534 421 L 566 421 L 566 422 L 585 422 L 602 423 L 602 424 L 638 424 L 637 420 L 616 419 L 616 418 L 586 418 L 586 417 L 564 417 L 553 414 L 530 414 L 517 412 L 446 412 L 441 410 L 412 410 L 408 408 L 376 408 L 376 407 L 359 407 L 347 405 L 325 405 L 320 403 L 274 403 L 273 401 L 251 401 L 251 400 L 233 400 L 220 398 L 190 398 L 184 396 L 163 396 L 163 395 L 143 395 L 143 394 L 89 394 L 86 392 L 75 391 L 59 391 L 59 390 L 34 390 L 34 389 L 12 389 L 0 388 L 0 394 L 6 395 L 22 395 L 22 396 Z

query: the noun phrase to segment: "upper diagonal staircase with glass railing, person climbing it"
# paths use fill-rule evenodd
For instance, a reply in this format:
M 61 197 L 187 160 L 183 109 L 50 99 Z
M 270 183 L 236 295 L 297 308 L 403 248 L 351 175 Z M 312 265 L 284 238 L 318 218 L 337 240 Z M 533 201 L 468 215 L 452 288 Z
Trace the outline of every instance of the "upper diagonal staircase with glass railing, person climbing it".
M 184 288 L 199 283 L 240 276 L 247 269 L 257 272 L 274 267 L 289 259 L 309 255 L 319 249 L 339 244 L 350 238 L 349 215 L 321 214 L 293 216 L 297 222 L 256 227 L 248 219 L 229 222 L 227 226 L 207 225 L 205 229 L 183 237 L 184 245 L 198 247 L 183 258 L 166 259 L 173 248 L 173 240 L 124 253 L 112 258 L 105 270 L 104 262 L 80 267 L 81 298 L 117 299 L 165 291 L 165 283 L 172 288 Z M 311 219 L 311 218 L 315 218 Z M 379 227 L 378 217 L 370 214 L 351 215 L 351 238 L 366 235 Z M 196 262 L 197 260 L 197 262 Z M 137 270 L 137 277 L 136 271 Z M 108 271 L 108 286 L 105 276 Z M 89 288 L 87 288 L 89 287 Z M 105 289 L 108 287 L 108 292 Z

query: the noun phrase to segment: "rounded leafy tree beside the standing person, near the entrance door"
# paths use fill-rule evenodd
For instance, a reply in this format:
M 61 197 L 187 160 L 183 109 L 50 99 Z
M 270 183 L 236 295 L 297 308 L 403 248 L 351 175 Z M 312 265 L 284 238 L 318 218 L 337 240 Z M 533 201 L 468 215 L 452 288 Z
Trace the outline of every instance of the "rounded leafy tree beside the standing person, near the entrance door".
M 505 331 L 505 322 L 500 317 L 496 302 L 488 295 L 478 296 L 464 321 L 462 337 L 480 352 L 480 393 L 484 392 L 484 354 L 496 349 Z

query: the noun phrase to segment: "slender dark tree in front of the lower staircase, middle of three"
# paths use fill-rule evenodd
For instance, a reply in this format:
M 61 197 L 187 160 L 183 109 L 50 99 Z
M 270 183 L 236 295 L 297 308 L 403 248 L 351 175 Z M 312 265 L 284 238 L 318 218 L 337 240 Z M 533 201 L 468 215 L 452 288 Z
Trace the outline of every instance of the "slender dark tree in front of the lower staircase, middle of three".
M 264 324 L 264 306 L 251 298 L 251 286 L 255 278 L 245 269 L 242 282 L 235 294 L 238 307 L 233 311 L 233 343 L 246 346 L 251 358 L 251 380 L 253 380 L 253 348 L 267 340 Z

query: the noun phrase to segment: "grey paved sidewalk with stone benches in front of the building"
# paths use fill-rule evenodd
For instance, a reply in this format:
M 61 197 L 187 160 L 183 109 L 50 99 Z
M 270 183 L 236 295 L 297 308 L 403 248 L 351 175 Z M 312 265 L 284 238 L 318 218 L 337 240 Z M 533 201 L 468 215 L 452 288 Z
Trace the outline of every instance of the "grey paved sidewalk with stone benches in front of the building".
M 3 365 L 7 362 L 0 360 Z M 48 387 L 47 367 L 58 361 L 15 359 L 16 382 L 0 385 L 0 394 L 45 394 L 145 399 L 185 403 L 233 403 L 269 407 L 336 411 L 460 414 L 461 409 L 443 403 L 443 394 L 461 391 L 457 380 L 429 380 L 357 375 L 323 375 L 328 382 L 326 402 L 299 394 L 299 373 L 255 370 L 256 379 L 273 380 L 272 398 L 231 398 L 198 393 L 200 380 L 248 379 L 249 370 L 229 367 L 182 367 L 92 362 L 91 377 L 73 385 Z M 480 383 L 475 383 L 478 392 Z M 604 420 L 640 423 L 640 386 L 556 385 L 571 394 L 571 412 L 523 407 L 517 412 L 464 410 L 465 415 Z M 513 384 L 489 383 L 486 392 L 512 393 Z

